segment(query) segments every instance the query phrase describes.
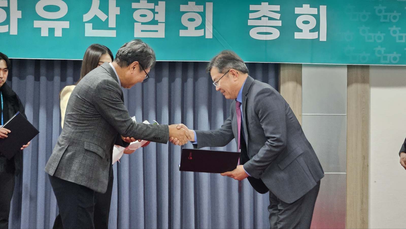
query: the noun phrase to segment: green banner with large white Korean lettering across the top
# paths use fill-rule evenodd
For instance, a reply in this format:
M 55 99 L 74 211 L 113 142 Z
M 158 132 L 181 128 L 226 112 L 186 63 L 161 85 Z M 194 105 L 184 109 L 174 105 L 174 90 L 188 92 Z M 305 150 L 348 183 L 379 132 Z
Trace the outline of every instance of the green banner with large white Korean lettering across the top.
M 161 61 L 406 65 L 406 0 L 0 0 L 0 52 L 82 59 L 134 38 Z

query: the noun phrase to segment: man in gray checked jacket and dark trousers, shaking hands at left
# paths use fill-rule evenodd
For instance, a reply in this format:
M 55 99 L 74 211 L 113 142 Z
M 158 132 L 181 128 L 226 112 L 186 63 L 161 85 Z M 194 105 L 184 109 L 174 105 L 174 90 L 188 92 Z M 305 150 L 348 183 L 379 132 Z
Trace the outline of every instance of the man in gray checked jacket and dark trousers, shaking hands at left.
M 133 122 L 124 107 L 121 87 L 148 78 L 155 52 L 140 39 L 124 44 L 112 63 L 87 74 L 67 104 L 62 133 L 45 167 L 59 206 L 63 227 L 94 228 L 95 192 L 106 192 L 114 143 L 148 140 L 165 143 L 190 135 L 176 125 Z M 126 136 L 126 137 L 122 137 Z

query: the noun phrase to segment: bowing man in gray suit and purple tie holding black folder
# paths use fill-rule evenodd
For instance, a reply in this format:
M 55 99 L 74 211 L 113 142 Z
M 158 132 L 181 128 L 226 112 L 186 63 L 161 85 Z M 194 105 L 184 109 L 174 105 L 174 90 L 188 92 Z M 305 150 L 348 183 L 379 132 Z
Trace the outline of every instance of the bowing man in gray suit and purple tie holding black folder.
M 238 144 L 241 117 L 240 165 L 222 175 L 248 177 L 255 190 L 269 191 L 270 228 L 310 228 L 324 172 L 292 109 L 274 88 L 248 76 L 235 52 L 220 52 L 207 71 L 216 90 L 233 100 L 231 115 L 216 130 L 192 131 L 183 124 L 178 128 L 188 130 L 195 148 L 221 147 L 233 139 Z

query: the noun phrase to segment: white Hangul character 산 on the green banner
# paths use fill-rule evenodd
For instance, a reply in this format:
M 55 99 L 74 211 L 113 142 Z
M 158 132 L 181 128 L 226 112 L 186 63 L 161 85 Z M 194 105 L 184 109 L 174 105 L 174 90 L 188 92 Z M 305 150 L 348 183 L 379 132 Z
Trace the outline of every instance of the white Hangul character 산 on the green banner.
M 116 7 L 116 0 L 108 1 L 108 16 L 99 9 L 100 0 L 92 0 L 89 12 L 83 15 L 83 22 L 91 20 L 97 16 L 103 22 L 108 17 L 108 27 L 116 28 L 116 15 L 120 14 L 120 7 Z M 85 37 L 116 37 L 116 30 L 93 29 L 93 23 L 84 24 Z

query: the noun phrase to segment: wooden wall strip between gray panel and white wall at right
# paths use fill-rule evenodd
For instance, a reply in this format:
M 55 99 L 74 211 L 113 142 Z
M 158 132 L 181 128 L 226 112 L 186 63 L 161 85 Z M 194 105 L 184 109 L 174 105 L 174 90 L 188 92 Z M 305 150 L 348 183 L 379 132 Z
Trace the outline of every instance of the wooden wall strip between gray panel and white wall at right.
M 369 66 L 348 65 L 346 228 L 368 228 Z

